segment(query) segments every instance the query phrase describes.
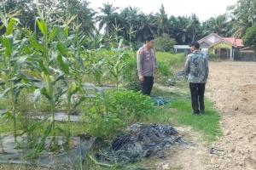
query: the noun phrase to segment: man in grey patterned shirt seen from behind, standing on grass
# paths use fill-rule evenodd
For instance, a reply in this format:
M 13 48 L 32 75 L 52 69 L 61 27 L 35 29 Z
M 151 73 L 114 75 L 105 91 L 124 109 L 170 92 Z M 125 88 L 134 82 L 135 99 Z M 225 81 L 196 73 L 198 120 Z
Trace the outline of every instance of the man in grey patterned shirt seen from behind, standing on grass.
M 190 49 L 192 53 L 187 57 L 185 72 L 189 81 L 192 108 L 194 114 L 203 114 L 205 113 L 205 87 L 209 73 L 208 59 L 200 52 L 198 42 L 191 42 Z

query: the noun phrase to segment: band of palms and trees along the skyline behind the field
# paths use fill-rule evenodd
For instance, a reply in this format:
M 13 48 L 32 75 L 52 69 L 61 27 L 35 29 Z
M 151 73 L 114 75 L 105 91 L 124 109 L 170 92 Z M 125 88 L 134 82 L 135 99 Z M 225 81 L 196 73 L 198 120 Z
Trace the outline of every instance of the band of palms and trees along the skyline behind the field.
M 136 46 L 141 44 L 148 34 L 154 34 L 155 37 L 162 37 L 165 34 L 178 44 L 188 44 L 212 32 L 222 37 L 243 37 L 247 28 L 253 26 L 256 20 L 255 0 L 239 0 L 227 9 L 226 14 L 203 22 L 200 22 L 195 14 L 168 16 L 164 6 L 161 6 L 156 14 L 143 14 L 139 8 L 117 8 L 113 4 L 105 3 L 96 13 L 89 8 L 89 4 L 79 0 L 39 0 L 38 3 L 28 0 L 6 0 L 1 2 L 0 9 L 3 14 L 19 18 L 21 25 L 30 30 L 38 29 L 34 25 L 38 12 L 41 17 L 49 13 L 49 20 L 54 20 L 57 24 L 64 20 L 66 24 L 70 24 L 70 30 L 82 31 L 88 35 L 91 42 L 87 45 L 90 48 L 98 48 L 99 43 L 95 42 L 106 45 L 109 42 L 107 39 L 116 35 L 124 37 L 126 45 L 131 45 L 132 42 Z M 75 20 L 72 20 L 73 16 Z M 116 27 L 119 29 L 114 35 Z M 99 31 L 104 31 L 104 34 L 99 34 Z

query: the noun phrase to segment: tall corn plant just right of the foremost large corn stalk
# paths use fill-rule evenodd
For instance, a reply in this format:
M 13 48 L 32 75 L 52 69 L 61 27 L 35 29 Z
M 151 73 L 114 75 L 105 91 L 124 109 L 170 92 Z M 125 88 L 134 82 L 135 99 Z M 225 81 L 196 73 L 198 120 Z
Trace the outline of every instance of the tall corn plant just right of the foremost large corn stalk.
M 64 72 L 63 80 L 67 85 L 67 115 L 70 122 L 71 112 L 85 99 L 86 92 L 83 88 L 83 77 L 86 69 L 82 58 L 84 55 L 84 48 L 82 46 L 84 36 L 79 36 L 78 31 L 74 35 L 69 36 L 67 27 L 65 31 L 65 36 L 61 38 L 61 42 L 57 43 L 57 50 L 59 52 L 58 65 L 61 71 Z M 65 62 L 63 59 L 65 59 Z M 72 103 L 73 97 L 75 100 Z

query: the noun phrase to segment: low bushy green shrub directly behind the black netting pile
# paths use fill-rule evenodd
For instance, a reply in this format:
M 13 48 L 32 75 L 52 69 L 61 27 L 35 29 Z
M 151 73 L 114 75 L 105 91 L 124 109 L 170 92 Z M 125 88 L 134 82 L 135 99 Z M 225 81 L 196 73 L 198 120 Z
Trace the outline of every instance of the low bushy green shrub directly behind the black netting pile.
M 90 123 L 91 135 L 109 138 L 153 111 L 154 105 L 148 96 L 132 91 L 108 91 L 103 97 L 91 99 L 84 118 Z

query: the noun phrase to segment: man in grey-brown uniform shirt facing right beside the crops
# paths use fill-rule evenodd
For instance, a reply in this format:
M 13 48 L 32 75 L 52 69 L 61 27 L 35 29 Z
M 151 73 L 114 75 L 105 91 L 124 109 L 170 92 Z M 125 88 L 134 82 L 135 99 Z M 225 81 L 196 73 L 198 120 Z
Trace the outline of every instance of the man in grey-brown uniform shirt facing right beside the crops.
M 137 71 L 141 82 L 142 93 L 150 95 L 154 84 L 156 58 L 154 53 L 154 37 L 148 36 L 146 43 L 137 51 Z

